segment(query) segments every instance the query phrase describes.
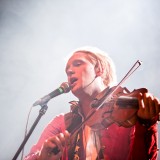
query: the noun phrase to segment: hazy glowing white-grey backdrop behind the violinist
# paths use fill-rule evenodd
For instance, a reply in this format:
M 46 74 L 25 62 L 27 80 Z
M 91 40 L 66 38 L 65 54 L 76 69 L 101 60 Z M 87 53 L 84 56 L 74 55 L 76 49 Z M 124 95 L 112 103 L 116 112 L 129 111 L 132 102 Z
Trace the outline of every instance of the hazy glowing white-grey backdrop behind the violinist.
M 146 87 L 160 98 L 159 8 L 158 0 L 1 0 L 0 159 L 12 159 L 20 146 L 30 106 L 66 81 L 66 57 L 77 47 L 108 52 L 118 81 L 143 61 L 124 86 Z M 73 99 L 68 93 L 48 103 L 25 154 L 52 117 L 69 111 Z M 39 109 L 32 110 L 29 126 Z

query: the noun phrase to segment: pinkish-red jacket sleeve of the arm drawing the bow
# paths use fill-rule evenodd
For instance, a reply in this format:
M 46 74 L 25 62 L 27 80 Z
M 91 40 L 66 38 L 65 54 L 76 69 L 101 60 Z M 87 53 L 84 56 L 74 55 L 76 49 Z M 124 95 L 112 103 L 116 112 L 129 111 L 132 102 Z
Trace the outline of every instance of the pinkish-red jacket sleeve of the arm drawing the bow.
M 64 132 L 65 124 L 64 124 L 64 115 L 61 114 L 56 116 L 44 129 L 42 132 L 38 142 L 32 146 L 29 154 L 25 156 L 24 160 L 37 160 L 40 150 L 43 146 L 45 140 L 49 137 L 52 137 L 58 133 Z

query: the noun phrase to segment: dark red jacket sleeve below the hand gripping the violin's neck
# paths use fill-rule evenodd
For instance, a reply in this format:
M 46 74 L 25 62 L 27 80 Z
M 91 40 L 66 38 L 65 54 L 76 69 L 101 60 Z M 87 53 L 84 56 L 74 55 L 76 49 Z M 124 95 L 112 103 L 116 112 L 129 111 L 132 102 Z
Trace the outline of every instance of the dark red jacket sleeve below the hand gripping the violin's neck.
M 139 119 L 135 125 L 133 143 L 129 160 L 156 160 L 158 151 L 157 120 Z

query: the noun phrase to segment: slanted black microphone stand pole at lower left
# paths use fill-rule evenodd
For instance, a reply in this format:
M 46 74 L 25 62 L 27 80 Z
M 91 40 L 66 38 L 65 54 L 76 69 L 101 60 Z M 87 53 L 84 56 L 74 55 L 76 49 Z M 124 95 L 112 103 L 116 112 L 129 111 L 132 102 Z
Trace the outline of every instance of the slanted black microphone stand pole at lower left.
M 41 119 L 41 117 L 46 113 L 48 109 L 47 104 L 43 104 L 43 106 L 41 106 L 41 109 L 39 110 L 39 115 L 37 116 L 35 122 L 33 123 L 33 125 L 31 126 L 28 134 L 25 136 L 23 142 L 21 143 L 19 149 L 17 150 L 16 154 L 14 155 L 12 160 L 16 160 L 17 157 L 19 156 L 20 152 L 22 151 L 24 145 L 26 144 L 27 140 L 29 139 L 29 137 L 31 136 L 33 130 L 35 129 L 36 125 L 38 124 L 39 120 Z

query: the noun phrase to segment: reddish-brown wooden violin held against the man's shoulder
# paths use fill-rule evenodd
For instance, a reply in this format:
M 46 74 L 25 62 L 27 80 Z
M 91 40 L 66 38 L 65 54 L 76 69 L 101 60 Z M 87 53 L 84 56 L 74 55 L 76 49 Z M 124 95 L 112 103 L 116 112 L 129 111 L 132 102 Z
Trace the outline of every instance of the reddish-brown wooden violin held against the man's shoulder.
M 118 87 L 114 94 L 110 95 L 114 89 L 115 87 L 106 88 L 92 102 L 92 113 L 85 124 L 93 130 L 107 128 L 113 123 L 126 128 L 136 123 L 139 109 L 137 96 L 139 93 L 146 93 L 147 89 L 140 88 L 130 92 L 126 87 Z M 107 95 L 110 95 L 109 100 L 103 102 Z

